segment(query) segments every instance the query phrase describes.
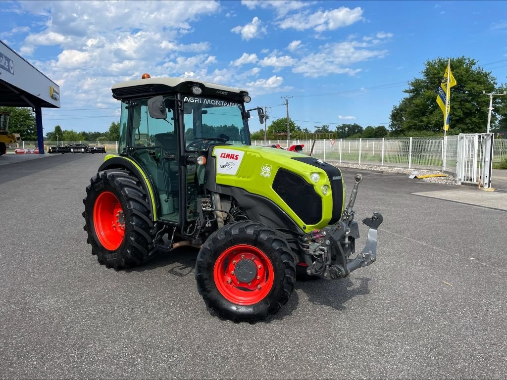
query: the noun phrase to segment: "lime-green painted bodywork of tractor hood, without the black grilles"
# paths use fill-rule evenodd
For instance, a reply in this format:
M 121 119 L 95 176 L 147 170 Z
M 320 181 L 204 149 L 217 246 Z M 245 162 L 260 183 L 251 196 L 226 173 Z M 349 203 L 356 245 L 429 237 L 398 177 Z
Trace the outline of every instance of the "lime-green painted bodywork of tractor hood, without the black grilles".
M 236 161 L 240 161 L 235 174 L 224 173 L 230 171 L 229 166 L 225 169 L 221 165 L 232 162 L 235 158 L 227 158 L 224 150 L 239 152 L 240 156 Z M 223 154 L 223 157 L 220 157 Z M 330 180 L 322 169 L 305 164 L 300 161 L 292 160 L 293 157 L 308 157 L 288 150 L 274 149 L 266 146 L 215 146 L 213 156 L 216 158 L 216 183 L 221 185 L 236 186 L 246 190 L 249 193 L 266 197 L 275 202 L 283 211 L 285 211 L 303 231 L 317 230 L 328 225 L 333 213 L 333 194 L 331 194 Z M 317 224 L 307 225 L 294 213 L 294 211 L 275 193 L 271 187 L 278 169 L 283 168 L 303 177 L 308 183 L 314 186 L 315 192 L 322 200 L 322 218 Z M 221 173 L 222 171 L 222 173 Z M 234 171 L 234 169 L 232 169 Z M 313 182 L 310 178 L 312 173 L 318 173 L 320 180 Z M 327 184 L 330 191 L 323 195 L 322 185 Z M 345 197 L 341 205 L 340 214 L 345 209 Z M 303 228 L 304 226 L 304 228 Z

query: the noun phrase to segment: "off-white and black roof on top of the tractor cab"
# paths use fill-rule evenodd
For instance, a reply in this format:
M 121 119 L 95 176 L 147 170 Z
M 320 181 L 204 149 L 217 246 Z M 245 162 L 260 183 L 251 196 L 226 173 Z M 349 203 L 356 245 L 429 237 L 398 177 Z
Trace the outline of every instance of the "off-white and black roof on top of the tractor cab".
M 236 98 L 238 95 L 247 95 L 246 90 L 236 87 L 222 86 L 215 83 L 196 81 L 188 78 L 147 78 L 127 81 L 113 85 L 113 97 L 126 99 L 143 95 L 159 95 L 168 92 L 184 92 L 192 94 L 193 86 L 198 85 L 203 89 L 204 95 L 226 96 Z

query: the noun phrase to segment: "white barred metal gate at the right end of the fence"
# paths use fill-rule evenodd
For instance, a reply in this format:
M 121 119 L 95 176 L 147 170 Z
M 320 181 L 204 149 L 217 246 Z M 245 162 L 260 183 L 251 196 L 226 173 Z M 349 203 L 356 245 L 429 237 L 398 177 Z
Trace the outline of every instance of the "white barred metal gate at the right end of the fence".
M 458 184 L 491 187 L 493 133 L 461 133 L 458 137 L 456 179 Z

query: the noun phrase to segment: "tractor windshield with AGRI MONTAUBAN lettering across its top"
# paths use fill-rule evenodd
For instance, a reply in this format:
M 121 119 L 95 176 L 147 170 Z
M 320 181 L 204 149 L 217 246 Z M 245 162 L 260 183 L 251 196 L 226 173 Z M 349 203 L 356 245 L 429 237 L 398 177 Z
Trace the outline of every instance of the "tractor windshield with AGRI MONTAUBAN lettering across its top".
M 250 144 L 240 103 L 198 96 L 185 96 L 183 101 L 188 150 L 206 149 L 214 143 Z

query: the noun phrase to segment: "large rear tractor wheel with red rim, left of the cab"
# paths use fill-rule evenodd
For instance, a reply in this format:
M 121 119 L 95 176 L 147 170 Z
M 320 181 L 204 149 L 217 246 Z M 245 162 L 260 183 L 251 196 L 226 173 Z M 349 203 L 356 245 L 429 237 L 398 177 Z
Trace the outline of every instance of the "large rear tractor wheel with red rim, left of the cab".
M 111 169 L 97 173 L 90 182 L 83 216 L 92 254 L 115 270 L 153 258 L 156 225 L 139 180 L 128 171 Z

